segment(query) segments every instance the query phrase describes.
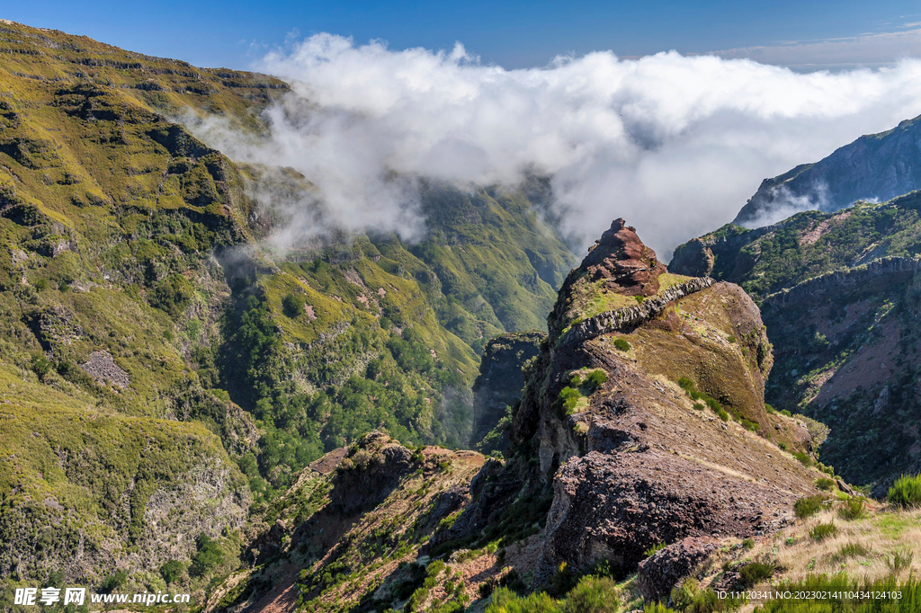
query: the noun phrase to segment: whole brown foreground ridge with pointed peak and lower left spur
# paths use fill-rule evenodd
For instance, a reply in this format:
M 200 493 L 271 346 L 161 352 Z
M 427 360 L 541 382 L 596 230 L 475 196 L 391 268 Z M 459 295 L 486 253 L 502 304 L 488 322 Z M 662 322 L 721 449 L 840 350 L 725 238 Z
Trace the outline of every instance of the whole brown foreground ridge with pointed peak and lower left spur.
M 206 610 L 698 611 L 714 590 L 804 580 L 804 505 L 830 498 L 817 484 L 851 491 L 814 462 L 801 419 L 764 405 L 771 347 L 739 286 L 666 272 L 616 220 L 567 275 L 548 331 L 487 344 L 490 397 L 538 349 L 504 454 L 384 434 L 331 452 L 267 509 L 253 568 Z M 854 529 L 893 551 L 882 515 Z M 891 572 L 870 564 L 868 577 Z

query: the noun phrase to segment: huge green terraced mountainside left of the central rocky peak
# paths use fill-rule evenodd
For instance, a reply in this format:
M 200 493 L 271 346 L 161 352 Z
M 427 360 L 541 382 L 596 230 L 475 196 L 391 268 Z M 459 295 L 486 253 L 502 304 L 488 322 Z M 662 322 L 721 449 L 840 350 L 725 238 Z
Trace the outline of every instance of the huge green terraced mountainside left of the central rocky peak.
M 425 183 L 414 244 L 266 247 L 251 187 L 306 179 L 170 118 L 258 138 L 287 91 L 0 23 L 3 581 L 201 595 L 324 453 L 467 444 L 485 341 L 542 328 L 573 256 L 524 189 Z

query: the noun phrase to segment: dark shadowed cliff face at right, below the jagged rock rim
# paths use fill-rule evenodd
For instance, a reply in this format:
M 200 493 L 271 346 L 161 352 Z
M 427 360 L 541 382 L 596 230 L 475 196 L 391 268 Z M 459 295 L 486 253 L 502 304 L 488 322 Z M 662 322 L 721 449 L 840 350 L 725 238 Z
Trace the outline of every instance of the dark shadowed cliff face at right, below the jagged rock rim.
M 886 258 L 764 300 L 776 357 L 768 400 L 827 424 L 822 461 L 875 496 L 921 471 L 919 279 L 918 260 Z

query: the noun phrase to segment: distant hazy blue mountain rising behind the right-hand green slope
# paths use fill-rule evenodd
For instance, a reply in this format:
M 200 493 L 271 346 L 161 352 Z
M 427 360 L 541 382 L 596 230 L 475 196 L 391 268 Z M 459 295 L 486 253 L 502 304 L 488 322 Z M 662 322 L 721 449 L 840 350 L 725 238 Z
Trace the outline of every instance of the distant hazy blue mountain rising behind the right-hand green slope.
M 919 147 L 921 117 L 861 136 L 818 162 L 764 179 L 732 223 L 764 225 L 804 209 L 833 213 L 857 201 L 887 201 L 921 189 Z

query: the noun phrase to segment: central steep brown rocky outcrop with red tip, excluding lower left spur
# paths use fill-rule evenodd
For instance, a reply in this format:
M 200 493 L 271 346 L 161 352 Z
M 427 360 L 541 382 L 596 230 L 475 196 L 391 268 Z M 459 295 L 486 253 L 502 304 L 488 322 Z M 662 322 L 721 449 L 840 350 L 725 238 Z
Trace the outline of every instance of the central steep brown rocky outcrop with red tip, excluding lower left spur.
M 738 286 L 712 279 L 670 278 L 663 288 L 653 257 L 619 220 L 570 273 L 552 337 L 587 304 L 578 300 L 616 302 L 654 277 L 659 289 L 542 349 L 513 417 L 517 455 L 484 467 L 490 474 L 474 481 L 454 537 L 512 522 L 520 501 L 549 495 L 543 572 L 561 561 L 583 570 L 607 561 L 632 573 L 660 543 L 774 531 L 814 492 L 814 474 L 773 442 L 793 445 L 787 426 L 775 429 L 764 411 L 772 358 L 758 308 Z M 566 287 L 582 294 L 574 299 Z M 703 396 L 695 402 L 679 381 Z

